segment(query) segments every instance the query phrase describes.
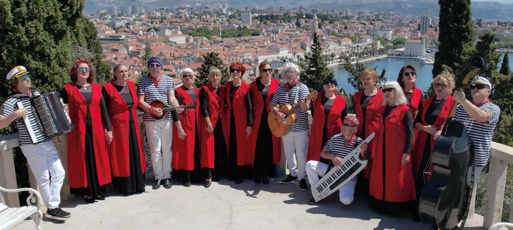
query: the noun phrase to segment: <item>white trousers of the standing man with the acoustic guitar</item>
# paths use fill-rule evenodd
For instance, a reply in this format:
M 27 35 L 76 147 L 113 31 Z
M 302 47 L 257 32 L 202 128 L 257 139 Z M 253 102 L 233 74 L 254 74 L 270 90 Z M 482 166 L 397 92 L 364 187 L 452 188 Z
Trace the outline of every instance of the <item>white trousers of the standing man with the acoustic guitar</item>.
M 282 136 L 282 143 L 290 175 L 298 176 L 298 179 L 305 179 L 306 154 L 308 149 L 308 131 L 289 132 L 287 133 L 287 135 Z M 299 165 L 295 162 L 294 150 L 295 155 L 298 157 Z M 296 168 L 299 169 L 299 172 L 295 171 Z

